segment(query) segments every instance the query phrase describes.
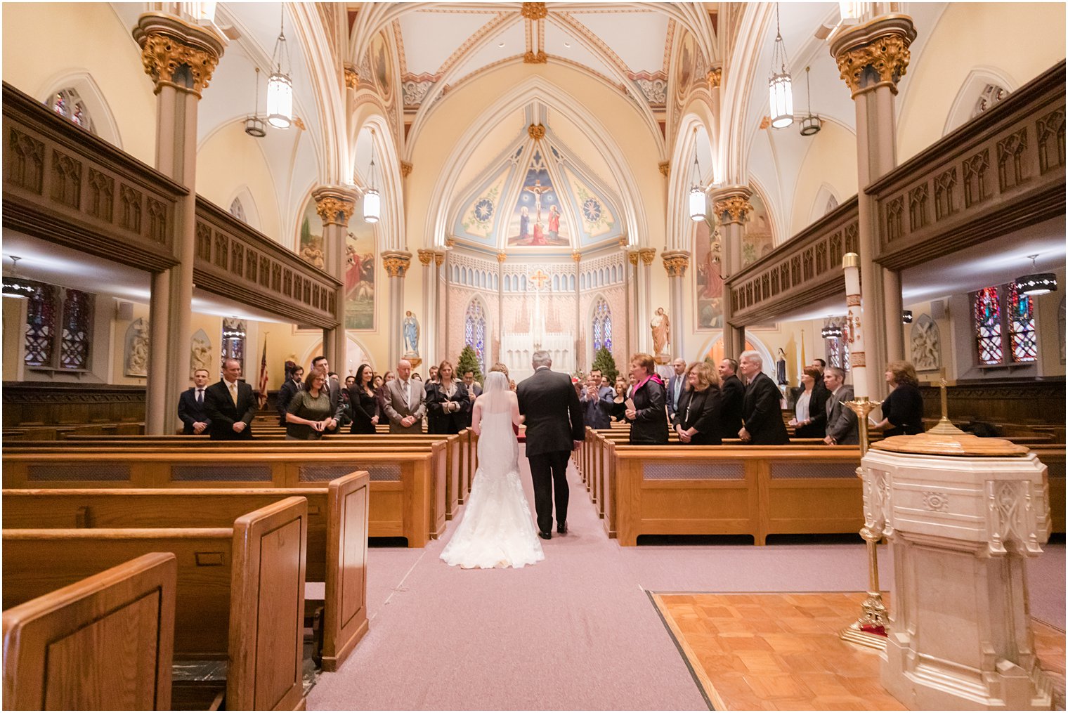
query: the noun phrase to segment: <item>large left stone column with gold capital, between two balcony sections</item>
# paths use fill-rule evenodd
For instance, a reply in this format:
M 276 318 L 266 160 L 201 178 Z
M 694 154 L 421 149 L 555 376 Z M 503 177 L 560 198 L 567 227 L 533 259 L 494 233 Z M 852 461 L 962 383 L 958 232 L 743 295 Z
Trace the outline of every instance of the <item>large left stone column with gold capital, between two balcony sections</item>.
M 189 189 L 175 209 L 174 257 L 152 276 L 145 433 L 173 433 L 178 395 L 189 385 L 197 250 L 197 110 L 226 39 L 174 15 L 145 13 L 134 28 L 141 63 L 156 84 L 156 169 Z

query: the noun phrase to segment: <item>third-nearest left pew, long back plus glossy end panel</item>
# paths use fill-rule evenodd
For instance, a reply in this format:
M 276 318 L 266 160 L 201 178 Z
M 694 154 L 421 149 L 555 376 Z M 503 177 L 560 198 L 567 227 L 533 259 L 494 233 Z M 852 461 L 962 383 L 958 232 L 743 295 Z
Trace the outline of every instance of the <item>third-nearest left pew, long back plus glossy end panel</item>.
M 4 490 L 3 528 L 224 527 L 289 496 L 308 501 L 308 582 L 325 582 L 323 668 L 336 670 L 367 632 L 365 471 L 323 488 Z

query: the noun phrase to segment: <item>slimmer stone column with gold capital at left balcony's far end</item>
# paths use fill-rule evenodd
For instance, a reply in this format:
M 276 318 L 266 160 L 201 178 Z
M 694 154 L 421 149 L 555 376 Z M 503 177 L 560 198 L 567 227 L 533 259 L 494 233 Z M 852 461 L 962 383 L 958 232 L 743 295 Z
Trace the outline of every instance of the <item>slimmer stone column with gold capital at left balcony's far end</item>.
M 356 194 L 342 186 L 320 186 L 312 191 L 315 211 L 323 220 L 323 252 L 326 254 L 326 271 L 341 282 L 334 304 L 334 319 L 337 326 L 323 330 L 323 353 L 331 368 L 342 375 L 348 361 L 348 345 L 345 338 L 345 240 L 348 221 L 356 208 Z

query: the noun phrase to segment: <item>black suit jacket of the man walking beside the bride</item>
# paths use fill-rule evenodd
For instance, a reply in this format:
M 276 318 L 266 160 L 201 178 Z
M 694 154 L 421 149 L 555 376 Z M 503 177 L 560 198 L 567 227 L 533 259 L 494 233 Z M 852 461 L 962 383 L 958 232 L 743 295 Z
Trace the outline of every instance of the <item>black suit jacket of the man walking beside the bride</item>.
M 516 387 L 519 413 L 527 417 L 527 457 L 570 453 L 584 441 L 582 409 L 571 379 L 552 369 L 538 369 Z

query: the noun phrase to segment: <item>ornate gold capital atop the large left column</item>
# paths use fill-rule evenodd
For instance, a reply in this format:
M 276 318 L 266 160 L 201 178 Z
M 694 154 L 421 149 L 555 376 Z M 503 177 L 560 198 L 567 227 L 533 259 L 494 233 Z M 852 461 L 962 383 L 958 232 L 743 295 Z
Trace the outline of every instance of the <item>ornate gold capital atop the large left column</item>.
M 198 97 L 211 81 L 226 39 L 214 29 L 192 25 L 164 13 L 144 13 L 134 28 L 141 47 L 141 64 L 156 83 L 156 93 L 174 86 Z M 179 67 L 189 67 L 191 86 L 174 80 Z

